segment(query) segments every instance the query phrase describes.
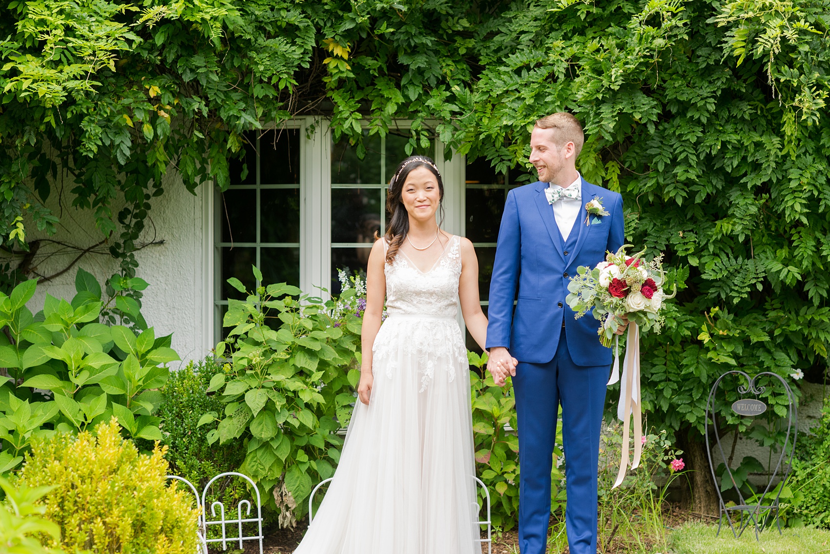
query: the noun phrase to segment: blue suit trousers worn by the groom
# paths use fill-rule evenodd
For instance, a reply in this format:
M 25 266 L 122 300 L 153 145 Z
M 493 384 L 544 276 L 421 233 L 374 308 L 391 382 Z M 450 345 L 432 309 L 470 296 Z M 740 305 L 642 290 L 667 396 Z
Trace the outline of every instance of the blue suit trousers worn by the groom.
M 519 420 L 519 549 L 544 554 L 550 519 L 550 471 L 562 405 L 565 525 L 571 554 L 597 552 L 597 469 L 608 366 L 577 366 L 564 329 L 554 359 L 520 362 L 513 377 Z

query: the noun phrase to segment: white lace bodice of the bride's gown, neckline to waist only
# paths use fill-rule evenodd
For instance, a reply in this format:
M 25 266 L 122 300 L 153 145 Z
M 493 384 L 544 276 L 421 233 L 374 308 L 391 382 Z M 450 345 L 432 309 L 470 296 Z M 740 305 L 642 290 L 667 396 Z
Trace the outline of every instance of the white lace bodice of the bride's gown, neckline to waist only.
M 398 250 L 395 260 L 383 269 L 386 275 L 386 309 L 395 313 L 417 313 L 455 317 L 458 310 L 458 279 L 461 277 L 461 240 L 450 237 L 432 269 L 419 270 Z

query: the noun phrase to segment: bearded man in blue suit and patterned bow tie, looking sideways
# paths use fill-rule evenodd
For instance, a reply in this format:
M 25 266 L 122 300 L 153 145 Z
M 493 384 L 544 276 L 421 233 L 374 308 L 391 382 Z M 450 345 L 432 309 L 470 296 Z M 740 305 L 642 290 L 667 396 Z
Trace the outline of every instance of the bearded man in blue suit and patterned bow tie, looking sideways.
M 547 547 L 559 404 L 570 552 L 597 552 L 599 430 L 611 349 L 599 343 L 598 320 L 590 314 L 575 319 L 565 296 L 580 265 L 593 268 L 606 250 L 623 245 L 623 198 L 579 175 L 574 163 L 583 140 L 571 114 L 536 122 L 530 163 L 539 181 L 507 195 L 490 285 L 488 369 L 500 384 L 514 376 L 521 554 L 544 554 Z M 608 215 L 587 213 L 585 204 L 594 198 Z

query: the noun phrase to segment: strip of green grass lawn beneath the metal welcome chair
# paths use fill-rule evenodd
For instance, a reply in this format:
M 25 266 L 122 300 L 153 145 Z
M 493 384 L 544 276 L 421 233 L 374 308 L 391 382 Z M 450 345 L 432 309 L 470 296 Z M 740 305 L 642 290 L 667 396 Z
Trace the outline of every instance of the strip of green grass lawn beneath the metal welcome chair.
M 732 536 L 729 527 L 720 530 L 717 525 L 687 523 L 671 532 L 669 544 L 673 554 L 830 554 L 830 531 L 819 529 L 768 529 L 759 534 L 750 528 L 739 539 Z

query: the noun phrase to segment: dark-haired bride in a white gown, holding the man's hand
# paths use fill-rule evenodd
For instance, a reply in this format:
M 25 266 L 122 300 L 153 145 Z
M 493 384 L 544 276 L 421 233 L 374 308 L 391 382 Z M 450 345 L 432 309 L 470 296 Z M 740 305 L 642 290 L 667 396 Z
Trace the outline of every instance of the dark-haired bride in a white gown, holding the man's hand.
M 487 318 L 471 242 L 436 222 L 443 195 L 430 158 L 406 158 L 389 183 L 392 219 L 366 276 L 360 401 L 295 554 L 481 552 L 459 301 L 482 348 Z

